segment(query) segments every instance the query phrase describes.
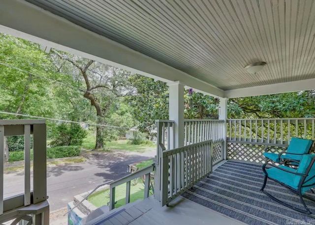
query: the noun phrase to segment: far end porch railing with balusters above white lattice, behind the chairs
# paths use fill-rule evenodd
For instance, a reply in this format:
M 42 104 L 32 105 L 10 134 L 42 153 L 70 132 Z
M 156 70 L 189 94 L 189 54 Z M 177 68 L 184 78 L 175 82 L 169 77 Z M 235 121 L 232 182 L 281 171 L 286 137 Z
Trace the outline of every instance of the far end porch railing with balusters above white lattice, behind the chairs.
M 315 118 L 228 119 L 227 158 L 264 163 L 266 145 L 286 147 L 292 137 L 314 140 Z

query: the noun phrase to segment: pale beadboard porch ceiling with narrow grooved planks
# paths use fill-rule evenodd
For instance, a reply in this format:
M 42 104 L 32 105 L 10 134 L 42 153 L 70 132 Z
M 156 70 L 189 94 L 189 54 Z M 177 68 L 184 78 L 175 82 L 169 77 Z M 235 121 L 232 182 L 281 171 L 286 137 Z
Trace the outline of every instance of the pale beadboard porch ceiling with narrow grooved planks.
M 223 90 L 315 78 L 314 0 L 27 1 Z

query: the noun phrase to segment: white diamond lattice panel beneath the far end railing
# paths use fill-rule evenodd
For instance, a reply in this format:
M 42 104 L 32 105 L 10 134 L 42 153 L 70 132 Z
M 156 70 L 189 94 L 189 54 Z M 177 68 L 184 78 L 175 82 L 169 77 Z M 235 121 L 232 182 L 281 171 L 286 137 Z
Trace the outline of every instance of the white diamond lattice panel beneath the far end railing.
M 265 157 L 262 155 L 265 145 L 244 144 L 244 143 L 227 143 L 227 157 L 228 159 L 244 160 L 255 163 L 265 163 Z M 274 147 L 270 152 L 281 152 L 283 147 Z

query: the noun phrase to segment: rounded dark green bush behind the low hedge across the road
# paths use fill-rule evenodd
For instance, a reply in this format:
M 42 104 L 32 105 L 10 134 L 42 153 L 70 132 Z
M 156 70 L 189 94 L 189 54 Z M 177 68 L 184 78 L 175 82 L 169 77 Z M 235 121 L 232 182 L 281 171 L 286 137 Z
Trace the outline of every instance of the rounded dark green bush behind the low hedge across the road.
M 50 146 L 82 145 L 87 132 L 77 123 L 62 123 L 58 125 L 52 134 L 53 140 Z

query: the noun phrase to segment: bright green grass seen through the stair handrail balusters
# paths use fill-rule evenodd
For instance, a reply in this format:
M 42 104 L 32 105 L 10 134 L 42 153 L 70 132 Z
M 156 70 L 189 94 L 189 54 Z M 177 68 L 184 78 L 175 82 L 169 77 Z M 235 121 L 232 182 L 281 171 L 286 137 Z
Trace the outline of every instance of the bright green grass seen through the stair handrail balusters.
M 142 179 L 138 180 L 136 185 L 134 184 L 134 180 L 131 181 L 130 187 L 130 202 L 136 201 L 138 199 L 143 199 L 144 196 L 144 184 Z M 152 191 L 150 191 L 150 196 L 152 195 Z M 109 202 L 109 188 L 96 192 L 88 197 L 88 201 L 90 201 L 96 207 L 101 207 L 102 205 L 106 205 Z M 115 191 L 115 208 L 118 208 L 122 205 L 125 205 L 126 201 L 126 184 L 122 184 L 116 187 Z

